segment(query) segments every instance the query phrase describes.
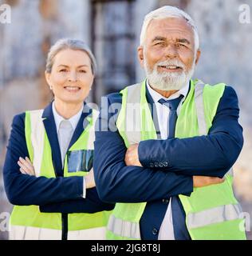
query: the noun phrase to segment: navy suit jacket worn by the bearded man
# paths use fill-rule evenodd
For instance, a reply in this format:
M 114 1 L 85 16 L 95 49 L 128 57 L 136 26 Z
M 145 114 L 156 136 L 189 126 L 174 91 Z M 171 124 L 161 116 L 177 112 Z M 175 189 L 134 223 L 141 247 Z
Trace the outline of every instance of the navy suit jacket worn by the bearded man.
M 226 86 L 207 136 L 140 142 L 143 167 L 126 166 L 124 162 L 127 148 L 115 126 L 121 98 L 120 93 L 109 94 L 102 101 L 96 124 L 96 188 L 105 202 L 148 202 L 140 219 L 141 238 L 157 239 L 169 198 L 190 196 L 193 175 L 223 177 L 238 158 L 243 145 L 238 98 L 234 89 Z M 152 101 L 148 93 L 147 98 Z M 168 165 L 160 167 L 163 162 Z M 190 239 L 179 200 L 172 204 L 172 214 L 176 219 L 175 239 Z

